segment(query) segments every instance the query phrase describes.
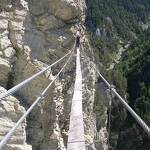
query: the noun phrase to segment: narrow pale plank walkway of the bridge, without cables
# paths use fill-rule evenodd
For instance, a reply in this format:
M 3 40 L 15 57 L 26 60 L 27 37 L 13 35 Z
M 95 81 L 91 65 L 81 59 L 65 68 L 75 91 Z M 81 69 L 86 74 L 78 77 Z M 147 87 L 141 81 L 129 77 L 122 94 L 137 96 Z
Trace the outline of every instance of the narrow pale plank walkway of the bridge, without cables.
M 82 72 L 79 48 L 77 48 L 76 54 L 76 79 L 72 99 L 67 150 L 85 150 L 82 114 Z

